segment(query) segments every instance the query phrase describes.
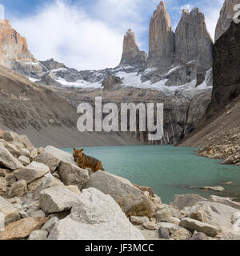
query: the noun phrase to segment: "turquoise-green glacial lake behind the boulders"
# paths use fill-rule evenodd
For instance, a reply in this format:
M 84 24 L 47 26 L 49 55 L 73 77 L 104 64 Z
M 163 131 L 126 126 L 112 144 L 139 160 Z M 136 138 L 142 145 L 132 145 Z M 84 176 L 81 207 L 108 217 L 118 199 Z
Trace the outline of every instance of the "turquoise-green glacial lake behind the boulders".
M 72 153 L 73 149 L 62 150 Z M 84 153 L 101 160 L 110 174 L 140 186 L 150 186 L 164 203 L 172 202 L 174 194 L 189 193 L 201 194 L 204 198 L 211 194 L 238 198 L 240 202 L 240 166 L 226 166 L 221 160 L 198 157 L 193 148 L 102 146 L 84 148 Z M 225 184 L 230 181 L 234 184 Z M 202 186 L 223 186 L 226 191 L 198 189 Z

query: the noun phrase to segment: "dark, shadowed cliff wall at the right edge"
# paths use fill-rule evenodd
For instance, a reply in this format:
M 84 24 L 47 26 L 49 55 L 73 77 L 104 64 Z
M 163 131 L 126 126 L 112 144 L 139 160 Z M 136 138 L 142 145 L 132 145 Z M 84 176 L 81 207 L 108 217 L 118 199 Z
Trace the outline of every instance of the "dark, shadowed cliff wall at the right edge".
M 231 23 L 229 30 L 214 44 L 214 88 L 207 110 L 210 118 L 240 94 L 240 24 Z

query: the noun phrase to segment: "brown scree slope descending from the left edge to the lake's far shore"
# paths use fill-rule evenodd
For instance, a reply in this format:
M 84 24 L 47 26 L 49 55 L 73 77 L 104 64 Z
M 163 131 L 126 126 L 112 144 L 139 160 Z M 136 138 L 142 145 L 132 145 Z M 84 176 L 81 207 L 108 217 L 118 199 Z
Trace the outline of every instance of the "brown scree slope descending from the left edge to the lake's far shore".
M 0 66 L 0 128 L 26 134 L 35 146 L 136 145 L 130 134 L 88 134 L 77 130 L 76 109 L 46 86 Z

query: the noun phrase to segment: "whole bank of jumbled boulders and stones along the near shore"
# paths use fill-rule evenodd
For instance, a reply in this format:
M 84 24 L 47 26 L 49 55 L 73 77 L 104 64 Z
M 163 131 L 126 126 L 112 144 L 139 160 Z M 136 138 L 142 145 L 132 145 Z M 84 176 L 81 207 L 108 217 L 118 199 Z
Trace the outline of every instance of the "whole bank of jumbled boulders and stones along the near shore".
M 10 131 L 0 132 L 0 166 L 0 240 L 240 239 L 240 203 L 230 198 L 185 194 L 162 204 L 147 188 L 82 170 L 71 154 Z

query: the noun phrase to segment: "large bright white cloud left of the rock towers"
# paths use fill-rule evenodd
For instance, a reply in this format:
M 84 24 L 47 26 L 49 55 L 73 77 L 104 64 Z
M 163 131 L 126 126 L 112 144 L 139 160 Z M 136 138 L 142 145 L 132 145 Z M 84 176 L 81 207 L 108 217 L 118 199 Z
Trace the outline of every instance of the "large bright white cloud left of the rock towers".
M 37 16 L 14 19 L 12 26 L 27 38 L 36 58 L 54 58 L 78 70 L 117 66 L 123 35 L 86 12 L 56 1 Z

